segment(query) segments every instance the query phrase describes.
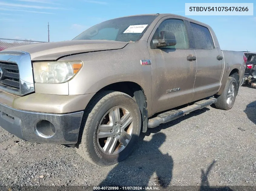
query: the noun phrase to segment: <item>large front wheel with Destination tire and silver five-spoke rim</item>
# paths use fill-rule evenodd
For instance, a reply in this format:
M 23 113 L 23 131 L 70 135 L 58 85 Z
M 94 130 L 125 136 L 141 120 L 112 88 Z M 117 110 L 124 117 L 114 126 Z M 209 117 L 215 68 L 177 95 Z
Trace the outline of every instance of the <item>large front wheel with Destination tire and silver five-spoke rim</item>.
M 116 124 L 114 120 L 116 121 L 118 118 L 116 117 L 118 110 L 120 117 Z M 121 117 L 125 115 L 128 117 Z M 127 123 L 124 122 L 126 118 Z M 130 125 L 125 127 L 128 123 Z M 102 91 L 95 95 L 85 109 L 77 151 L 92 164 L 98 166 L 113 165 L 127 158 L 132 152 L 138 141 L 140 130 L 141 113 L 135 100 L 122 92 Z M 107 137 L 100 138 L 101 136 Z M 116 145 L 116 149 L 112 146 L 115 145 L 115 142 L 117 145 L 119 143 L 119 146 Z M 110 148 L 106 144 L 110 145 Z

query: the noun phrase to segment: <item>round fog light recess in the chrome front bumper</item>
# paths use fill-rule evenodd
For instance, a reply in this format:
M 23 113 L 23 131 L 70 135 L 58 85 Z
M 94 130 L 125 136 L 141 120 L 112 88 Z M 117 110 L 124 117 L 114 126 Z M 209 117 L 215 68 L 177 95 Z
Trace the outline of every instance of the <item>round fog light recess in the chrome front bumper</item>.
M 54 125 L 47 120 L 40 120 L 35 125 L 36 133 L 44 138 L 51 137 L 55 134 L 56 129 Z

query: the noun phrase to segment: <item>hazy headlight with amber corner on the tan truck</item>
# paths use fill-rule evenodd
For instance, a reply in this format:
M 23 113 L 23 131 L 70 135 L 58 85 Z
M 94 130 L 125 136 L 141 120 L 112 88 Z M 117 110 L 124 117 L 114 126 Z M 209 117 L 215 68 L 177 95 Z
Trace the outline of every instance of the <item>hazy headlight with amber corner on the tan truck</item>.
M 35 82 L 62 83 L 71 79 L 81 67 L 81 61 L 33 62 Z

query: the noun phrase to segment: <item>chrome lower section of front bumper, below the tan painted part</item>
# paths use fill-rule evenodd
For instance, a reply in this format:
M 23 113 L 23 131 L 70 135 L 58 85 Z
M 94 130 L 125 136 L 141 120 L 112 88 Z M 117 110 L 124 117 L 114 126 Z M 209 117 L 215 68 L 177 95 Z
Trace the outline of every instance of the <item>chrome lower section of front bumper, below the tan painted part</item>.
M 75 144 L 83 111 L 68 114 L 18 110 L 0 103 L 0 126 L 25 141 Z

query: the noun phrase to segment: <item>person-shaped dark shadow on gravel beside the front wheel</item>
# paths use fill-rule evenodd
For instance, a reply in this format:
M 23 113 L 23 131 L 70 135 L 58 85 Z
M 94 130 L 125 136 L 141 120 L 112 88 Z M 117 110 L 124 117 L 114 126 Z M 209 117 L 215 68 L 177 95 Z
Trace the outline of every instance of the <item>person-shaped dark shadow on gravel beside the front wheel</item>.
M 172 179 L 173 160 L 162 154 L 159 147 L 165 142 L 164 133 L 156 133 L 150 141 L 139 139 L 134 153 L 118 163 L 99 186 L 147 186 L 167 187 Z M 132 172 L 132 173 L 131 173 Z M 156 178 L 151 176 L 156 173 Z

